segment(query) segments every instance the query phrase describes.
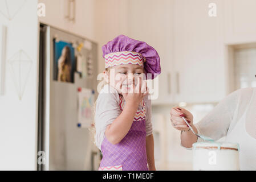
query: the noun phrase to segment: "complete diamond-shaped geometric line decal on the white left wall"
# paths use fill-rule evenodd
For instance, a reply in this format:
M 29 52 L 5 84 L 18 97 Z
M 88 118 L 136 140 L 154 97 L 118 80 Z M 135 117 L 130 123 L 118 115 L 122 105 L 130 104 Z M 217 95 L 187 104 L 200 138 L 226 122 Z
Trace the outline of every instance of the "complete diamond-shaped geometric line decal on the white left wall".
M 22 100 L 23 93 L 26 88 L 27 79 L 32 67 L 32 60 L 25 51 L 20 49 L 8 60 L 11 69 L 11 77 L 19 97 Z

